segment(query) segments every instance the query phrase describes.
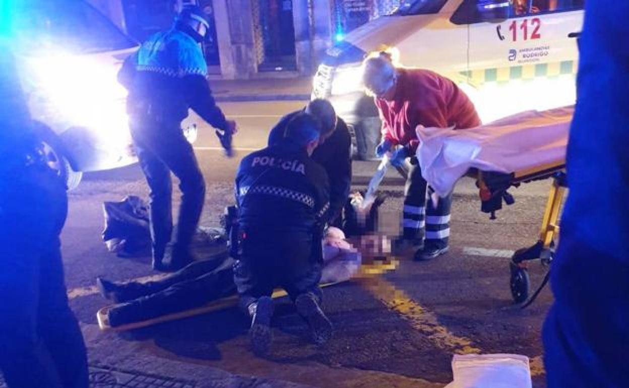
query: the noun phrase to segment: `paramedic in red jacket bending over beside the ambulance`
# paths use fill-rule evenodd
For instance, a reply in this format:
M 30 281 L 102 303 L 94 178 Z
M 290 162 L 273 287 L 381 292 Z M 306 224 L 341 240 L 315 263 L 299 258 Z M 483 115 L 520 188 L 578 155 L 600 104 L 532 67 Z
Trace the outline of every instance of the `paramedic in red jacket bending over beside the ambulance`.
M 455 130 L 481 125 L 474 104 L 452 80 L 429 70 L 396 68 L 386 53 L 365 60 L 364 69 L 365 87 L 374 95 L 382 119 L 382 141 L 376 154 L 388 153 L 393 165 L 415 155 L 418 125 Z M 421 247 L 424 235 L 415 260 L 448 252 L 452 193 L 435 206 L 426 201 L 426 186 L 420 166 L 411 165 L 404 189 L 402 241 L 404 247 Z

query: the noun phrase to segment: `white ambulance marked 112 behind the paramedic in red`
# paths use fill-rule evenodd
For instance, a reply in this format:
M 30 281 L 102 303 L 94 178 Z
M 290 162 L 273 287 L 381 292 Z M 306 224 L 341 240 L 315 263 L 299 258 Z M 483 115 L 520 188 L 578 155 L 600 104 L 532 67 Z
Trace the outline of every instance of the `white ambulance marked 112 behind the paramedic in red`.
M 402 1 L 326 51 L 313 98 L 331 101 L 363 160 L 375 158 L 381 128 L 361 80 L 370 53 L 386 50 L 405 67 L 454 80 L 484 122 L 573 104 L 583 8 L 584 0 Z

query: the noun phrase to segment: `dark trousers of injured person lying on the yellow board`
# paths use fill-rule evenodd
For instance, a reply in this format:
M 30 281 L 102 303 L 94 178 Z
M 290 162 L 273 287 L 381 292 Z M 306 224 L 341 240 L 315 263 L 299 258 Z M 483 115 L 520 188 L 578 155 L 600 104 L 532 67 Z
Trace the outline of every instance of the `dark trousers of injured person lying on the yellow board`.
M 146 321 L 235 295 L 233 264 L 230 257 L 201 260 L 161 280 L 120 285 L 117 294 L 125 302 L 109 310 L 109 324 Z

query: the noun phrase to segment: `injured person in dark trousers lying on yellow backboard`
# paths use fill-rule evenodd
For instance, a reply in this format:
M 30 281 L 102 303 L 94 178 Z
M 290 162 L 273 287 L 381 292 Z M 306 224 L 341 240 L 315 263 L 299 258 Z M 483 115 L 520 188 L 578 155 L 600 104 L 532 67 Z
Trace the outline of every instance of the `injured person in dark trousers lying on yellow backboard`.
M 343 231 L 328 228 L 323 239 L 321 284 L 342 282 L 357 274 L 360 253 L 345 241 Z M 97 278 L 101 295 L 116 303 L 109 309 L 112 327 L 179 313 L 223 297 L 236 295 L 235 260 L 225 253 L 193 262 L 152 282 L 111 282 Z

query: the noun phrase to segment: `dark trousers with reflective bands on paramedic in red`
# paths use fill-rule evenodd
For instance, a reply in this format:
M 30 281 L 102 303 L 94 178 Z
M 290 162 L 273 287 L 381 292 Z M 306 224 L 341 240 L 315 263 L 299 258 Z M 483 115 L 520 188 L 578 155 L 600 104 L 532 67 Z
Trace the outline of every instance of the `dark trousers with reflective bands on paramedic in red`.
M 421 240 L 428 247 L 445 248 L 450 236 L 452 193 L 439 198 L 437 206 L 428 198 L 428 183 L 418 164 L 411 165 L 404 187 L 404 239 Z

